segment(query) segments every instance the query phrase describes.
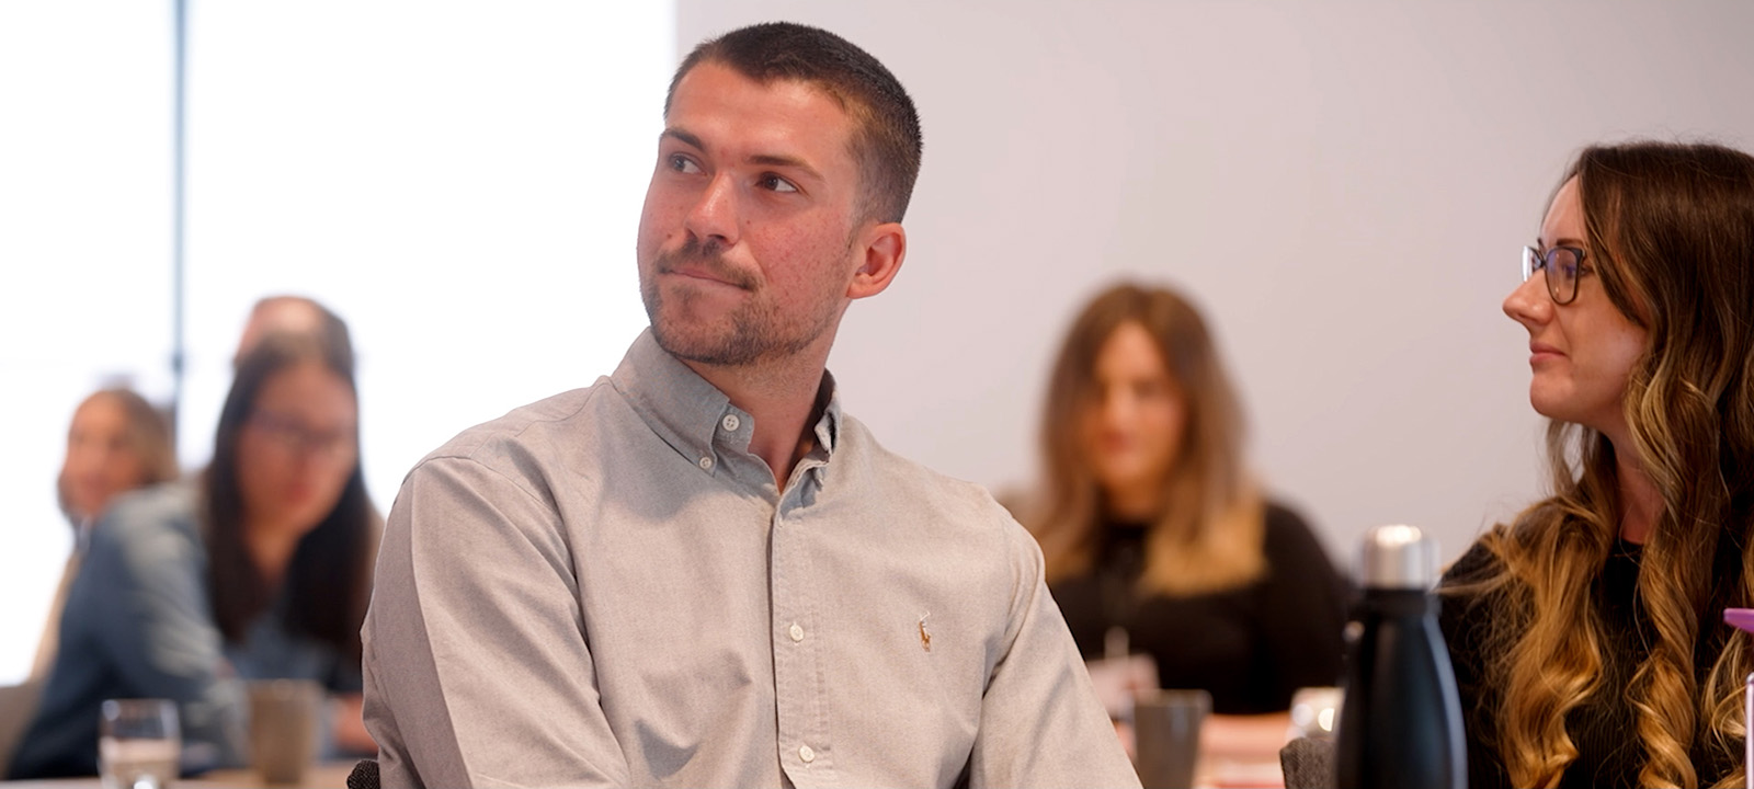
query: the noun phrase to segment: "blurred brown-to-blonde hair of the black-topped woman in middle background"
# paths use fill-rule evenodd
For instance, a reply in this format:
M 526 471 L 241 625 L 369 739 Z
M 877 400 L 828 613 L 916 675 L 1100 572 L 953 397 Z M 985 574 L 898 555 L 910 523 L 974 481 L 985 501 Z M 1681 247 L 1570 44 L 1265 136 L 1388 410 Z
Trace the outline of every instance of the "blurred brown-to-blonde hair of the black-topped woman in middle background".
M 1244 586 L 1266 572 L 1266 558 L 1265 508 L 1242 465 L 1240 403 L 1200 312 L 1168 288 L 1133 282 L 1100 293 L 1072 323 L 1054 361 L 1042 417 L 1045 484 L 1023 508 L 1042 544 L 1047 579 L 1084 573 L 1096 559 L 1103 503 L 1079 431 L 1096 398 L 1096 356 L 1128 323 L 1142 326 L 1163 354 L 1187 424 L 1163 480 L 1166 507 L 1145 537 L 1140 586 L 1170 596 Z

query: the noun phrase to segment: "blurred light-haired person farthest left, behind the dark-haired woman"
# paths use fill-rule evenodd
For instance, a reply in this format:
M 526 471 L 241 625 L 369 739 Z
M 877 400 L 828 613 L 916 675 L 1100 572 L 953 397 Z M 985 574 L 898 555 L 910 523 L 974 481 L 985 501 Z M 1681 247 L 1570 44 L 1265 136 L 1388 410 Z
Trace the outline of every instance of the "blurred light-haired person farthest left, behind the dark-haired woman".
M 118 494 L 177 479 L 177 456 L 170 424 L 153 403 L 128 387 L 98 389 L 74 409 L 67 428 L 67 454 L 54 479 L 61 514 L 74 528 L 74 551 L 49 607 L 32 679 L 47 677 L 54 663 L 56 629 L 67 587 L 79 573 L 79 561 L 91 538 L 91 524 Z

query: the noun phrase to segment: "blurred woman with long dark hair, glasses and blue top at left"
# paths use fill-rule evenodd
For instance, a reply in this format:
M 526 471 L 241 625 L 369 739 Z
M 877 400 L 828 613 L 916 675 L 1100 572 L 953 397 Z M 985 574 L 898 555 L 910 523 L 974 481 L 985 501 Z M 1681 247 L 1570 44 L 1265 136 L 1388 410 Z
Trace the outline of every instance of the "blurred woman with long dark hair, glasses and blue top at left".
M 200 479 L 123 496 L 93 530 L 14 778 L 95 773 L 109 698 L 175 700 L 186 770 L 242 764 L 237 680 L 254 679 L 321 682 L 333 749 L 374 750 L 360 624 L 381 519 L 358 414 L 346 333 L 270 335 L 240 359 Z

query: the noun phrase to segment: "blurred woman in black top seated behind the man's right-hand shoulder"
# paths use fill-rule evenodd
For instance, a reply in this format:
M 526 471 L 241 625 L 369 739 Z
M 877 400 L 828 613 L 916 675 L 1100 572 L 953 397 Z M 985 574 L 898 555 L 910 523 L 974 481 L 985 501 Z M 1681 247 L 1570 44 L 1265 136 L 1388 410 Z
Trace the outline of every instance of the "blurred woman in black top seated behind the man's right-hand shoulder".
M 1293 693 L 1340 680 L 1345 584 L 1251 480 L 1242 433 L 1194 307 L 1116 284 L 1059 349 L 1017 510 L 1086 659 L 1144 656 L 1163 687 L 1212 693 L 1209 750 L 1275 752 Z

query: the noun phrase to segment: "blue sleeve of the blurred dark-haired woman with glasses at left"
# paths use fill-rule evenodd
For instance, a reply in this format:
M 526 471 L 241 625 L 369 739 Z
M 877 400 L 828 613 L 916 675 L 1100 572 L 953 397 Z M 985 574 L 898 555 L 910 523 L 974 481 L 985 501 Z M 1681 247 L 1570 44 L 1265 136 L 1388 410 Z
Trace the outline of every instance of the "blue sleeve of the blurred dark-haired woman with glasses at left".
M 244 700 L 237 682 L 221 679 L 223 642 L 198 537 L 144 510 L 118 510 L 93 531 L 68 615 L 89 622 L 91 643 L 125 694 L 177 701 L 193 763 L 242 764 Z

